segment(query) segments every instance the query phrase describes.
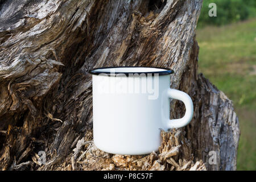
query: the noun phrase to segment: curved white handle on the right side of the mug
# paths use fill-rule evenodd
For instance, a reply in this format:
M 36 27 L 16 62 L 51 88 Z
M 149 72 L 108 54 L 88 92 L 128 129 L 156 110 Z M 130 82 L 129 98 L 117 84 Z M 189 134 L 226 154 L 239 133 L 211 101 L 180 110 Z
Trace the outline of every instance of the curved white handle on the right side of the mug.
M 188 125 L 188 123 L 191 121 L 193 117 L 193 102 L 191 98 L 188 96 L 187 93 L 171 88 L 167 90 L 167 96 L 168 98 L 174 98 L 176 100 L 182 101 L 185 104 L 186 108 L 185 115 L 183 118 L 168 119 L 167 128 L 172 129 Z

